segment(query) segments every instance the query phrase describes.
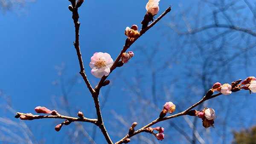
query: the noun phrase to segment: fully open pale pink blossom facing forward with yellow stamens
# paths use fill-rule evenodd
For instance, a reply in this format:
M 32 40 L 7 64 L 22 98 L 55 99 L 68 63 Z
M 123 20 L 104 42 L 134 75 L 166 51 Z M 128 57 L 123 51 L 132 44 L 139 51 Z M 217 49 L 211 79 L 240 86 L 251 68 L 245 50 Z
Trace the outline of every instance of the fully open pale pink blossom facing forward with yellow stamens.
M 113 59 L 108 53 L 95 52 L 89 64 L 92 68 L 91 73 L 96 78 L 102 78 L 104 75 L 108 76 L 113 63 Z

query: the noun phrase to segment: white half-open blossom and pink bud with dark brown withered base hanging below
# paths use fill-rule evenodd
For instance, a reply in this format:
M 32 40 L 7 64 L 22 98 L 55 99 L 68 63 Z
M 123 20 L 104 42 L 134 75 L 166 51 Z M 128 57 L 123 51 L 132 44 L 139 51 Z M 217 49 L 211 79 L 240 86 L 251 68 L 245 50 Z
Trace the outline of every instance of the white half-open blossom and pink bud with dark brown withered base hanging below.
M 204 108 L 201 111 L 196 111 L 195 116 L 198 116 L 198 118 L 202 118 L 203 126 L 205 128 L 214 127 L 214 119 L 216 118 L 214 109 Z

